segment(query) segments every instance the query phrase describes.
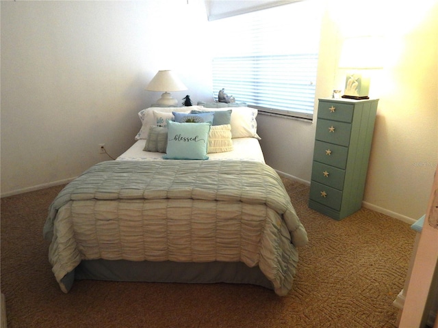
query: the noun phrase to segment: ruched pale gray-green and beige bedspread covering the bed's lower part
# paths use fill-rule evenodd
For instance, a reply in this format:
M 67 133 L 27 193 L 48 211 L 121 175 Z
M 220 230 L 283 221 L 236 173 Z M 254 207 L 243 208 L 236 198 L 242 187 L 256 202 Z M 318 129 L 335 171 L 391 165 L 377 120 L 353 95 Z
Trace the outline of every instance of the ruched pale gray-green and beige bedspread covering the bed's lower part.
M 81 260 L 244 262 L 278 295 L 307 243 L 283 182 L 253 161 L 107 161 L 70 182 L 44 238 L 57 282 Z

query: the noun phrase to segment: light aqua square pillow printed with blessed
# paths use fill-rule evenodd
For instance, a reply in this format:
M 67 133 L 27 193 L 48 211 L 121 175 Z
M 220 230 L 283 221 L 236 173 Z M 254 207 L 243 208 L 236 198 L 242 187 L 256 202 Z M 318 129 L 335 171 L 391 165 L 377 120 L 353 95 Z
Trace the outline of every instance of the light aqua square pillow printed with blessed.
M 210 123 L 168 121 L 168 141 L 163 159 L 208 159 Z

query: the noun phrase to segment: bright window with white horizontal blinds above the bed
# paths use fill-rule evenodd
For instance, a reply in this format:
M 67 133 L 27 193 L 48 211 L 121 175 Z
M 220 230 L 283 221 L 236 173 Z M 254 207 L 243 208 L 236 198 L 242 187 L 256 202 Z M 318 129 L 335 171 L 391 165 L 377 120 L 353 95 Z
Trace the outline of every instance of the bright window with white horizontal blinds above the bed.
M 213 87 L 261 112 L 313 117 L 319 1 L 299 1 L 209 22 Z M 319 6 L 321 8 L 321 6 Z

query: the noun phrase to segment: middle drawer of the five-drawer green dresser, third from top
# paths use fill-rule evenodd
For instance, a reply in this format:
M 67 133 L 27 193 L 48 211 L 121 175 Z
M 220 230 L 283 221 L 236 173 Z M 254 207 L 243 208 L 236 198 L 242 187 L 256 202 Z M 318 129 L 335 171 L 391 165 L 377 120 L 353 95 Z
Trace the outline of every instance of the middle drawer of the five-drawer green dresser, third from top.
M 313 160 L 320 163 L 329 164 L 339 169 L 345 169 L 347 165 L 348 148 L 333 143 L 315 141 Z

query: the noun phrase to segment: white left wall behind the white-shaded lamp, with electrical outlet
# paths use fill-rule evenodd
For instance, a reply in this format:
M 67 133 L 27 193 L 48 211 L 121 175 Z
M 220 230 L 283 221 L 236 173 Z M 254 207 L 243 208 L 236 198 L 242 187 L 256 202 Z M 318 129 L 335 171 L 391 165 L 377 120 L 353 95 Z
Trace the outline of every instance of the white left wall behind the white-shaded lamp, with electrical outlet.
M 1 1 L 1 193 L 73 178 L 118 156 L 140 129 L 137 113 L 159 92 L 211 100 L 203 1 Z

